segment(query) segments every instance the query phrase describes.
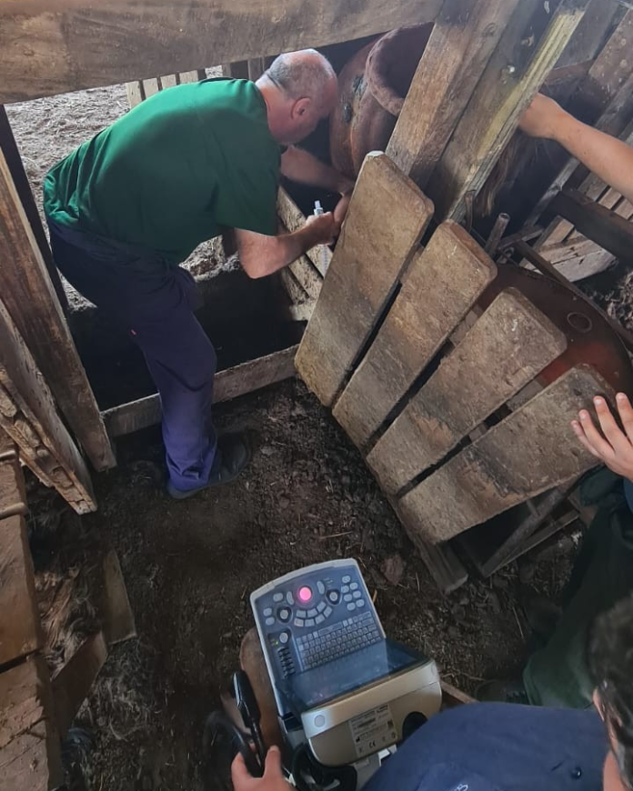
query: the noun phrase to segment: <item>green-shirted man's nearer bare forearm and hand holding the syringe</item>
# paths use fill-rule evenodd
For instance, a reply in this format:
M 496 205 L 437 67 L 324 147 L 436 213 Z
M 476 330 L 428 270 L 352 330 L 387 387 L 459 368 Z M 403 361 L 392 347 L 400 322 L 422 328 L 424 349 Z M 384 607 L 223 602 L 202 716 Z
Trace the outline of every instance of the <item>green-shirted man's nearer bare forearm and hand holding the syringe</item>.
M 329 245 L 339 225 L 331 212 L 309 216 L 306 225 L 292 234 L 266 236 L 236 228 L 240 264 L 249 277 L 265 277 L 292 264 L 311 247 Z

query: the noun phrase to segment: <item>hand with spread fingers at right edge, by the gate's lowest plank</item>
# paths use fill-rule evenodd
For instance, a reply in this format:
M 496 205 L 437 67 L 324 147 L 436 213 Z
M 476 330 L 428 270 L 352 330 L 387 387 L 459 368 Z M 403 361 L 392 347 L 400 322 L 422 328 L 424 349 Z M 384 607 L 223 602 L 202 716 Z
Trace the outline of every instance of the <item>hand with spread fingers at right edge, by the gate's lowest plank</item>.
M 624 393 L 616 395 L 616 403 L 624 431 L 618 426 L 607 402 L 600 395 L 594 398 L 594 406 L 602 434 L 586 409 L 580 410 L 579 422 L 574 420 L 571 426 L 589 453 L 600 459 L 616 475 L 630 481 L 633 480 L 633 407 Z

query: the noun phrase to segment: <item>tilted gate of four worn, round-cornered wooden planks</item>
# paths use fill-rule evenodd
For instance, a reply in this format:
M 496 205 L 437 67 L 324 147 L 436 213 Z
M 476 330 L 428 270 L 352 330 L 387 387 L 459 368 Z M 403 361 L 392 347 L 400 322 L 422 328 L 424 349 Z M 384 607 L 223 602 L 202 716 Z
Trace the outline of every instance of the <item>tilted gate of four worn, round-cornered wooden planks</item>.
M 512 288 L 475 310 L 497 267 L 452 220 L 421 246 L 432 215 L 387 155 L 367 156 L 296 356 L 429 563 L 432 545 L 594 466 L 569 422 L 611 395 L 586 365 L 536 383 L 566 336 Z

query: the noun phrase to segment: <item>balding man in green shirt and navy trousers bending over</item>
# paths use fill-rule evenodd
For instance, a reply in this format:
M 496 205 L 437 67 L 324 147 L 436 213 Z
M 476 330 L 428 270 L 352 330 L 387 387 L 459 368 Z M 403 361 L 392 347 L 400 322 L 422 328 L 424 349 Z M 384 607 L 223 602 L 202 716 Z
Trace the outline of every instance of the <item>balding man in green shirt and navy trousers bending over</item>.
M 55 264 L 143 350 L 163 408 L 167 489 L 178 499 L 233 480 L 247 462 L 240 439 L 216 439 L 216 354 L 179 264 L 223 228 L 235 229 L 250 277 L 332 240 L 353 184 L 293 144 L 336 101 L 326 58 L 281 55 L 256 83 L 203 80 L 146 99 L 46 176 Z M 343 197 L 334 214 L 276 235 L 280 175 Z

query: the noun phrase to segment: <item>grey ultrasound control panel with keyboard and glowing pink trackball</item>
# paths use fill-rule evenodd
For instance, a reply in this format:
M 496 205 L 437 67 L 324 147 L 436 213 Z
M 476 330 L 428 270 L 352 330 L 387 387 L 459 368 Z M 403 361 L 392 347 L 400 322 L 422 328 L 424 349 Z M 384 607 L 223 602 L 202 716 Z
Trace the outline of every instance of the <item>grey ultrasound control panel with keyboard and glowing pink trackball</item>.
M 385 639 L 355 560 L 279 577 L 251 595 L 251 606 L 274 687 Z

